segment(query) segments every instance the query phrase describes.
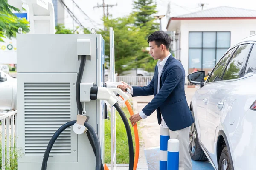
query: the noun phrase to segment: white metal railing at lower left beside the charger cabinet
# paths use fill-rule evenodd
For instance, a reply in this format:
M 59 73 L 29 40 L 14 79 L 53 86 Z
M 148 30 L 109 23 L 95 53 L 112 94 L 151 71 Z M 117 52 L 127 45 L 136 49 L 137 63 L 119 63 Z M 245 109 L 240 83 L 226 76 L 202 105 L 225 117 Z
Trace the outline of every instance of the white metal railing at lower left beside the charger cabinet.
M 0 112 L 0 120 L 1 120 L 1 132 L 2 132 L 2 168 L 1 170 L 10 169 L 10 160 L 15 159 L 14 157 L 14 149 L 17 137 L 17 124 L 15 121 L 17 119 L 17 110 L 9 111 L 9 112 Z M 11 127 L 10 127 L 11 125 Z M 10 136 L 11 135 L 11 136 Z M 10 159 L 11 157 L 11 159 Z

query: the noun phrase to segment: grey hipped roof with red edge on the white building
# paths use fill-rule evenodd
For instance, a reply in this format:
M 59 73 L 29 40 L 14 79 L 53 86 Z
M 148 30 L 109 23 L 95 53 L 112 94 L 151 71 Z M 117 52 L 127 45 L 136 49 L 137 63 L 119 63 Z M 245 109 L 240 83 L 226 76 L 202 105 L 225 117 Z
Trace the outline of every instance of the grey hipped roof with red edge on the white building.
M 229 6 L 219 6 L 216 8 L 206 9 L 190 14 L 171 17 L 167 24 L 167 28 L 171 20 L 228 20 L 228 19 L 256 19 L 256 11 L 234 8 Z

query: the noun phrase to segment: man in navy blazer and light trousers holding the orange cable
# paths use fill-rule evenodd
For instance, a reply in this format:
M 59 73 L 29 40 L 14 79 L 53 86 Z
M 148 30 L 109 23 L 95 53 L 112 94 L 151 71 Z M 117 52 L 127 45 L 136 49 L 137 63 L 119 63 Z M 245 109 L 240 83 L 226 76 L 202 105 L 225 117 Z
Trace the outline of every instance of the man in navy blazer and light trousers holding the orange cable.
M 148 37 L 148 43 L 151 56 L 154 60 L 158 59 L 153 79 L 144 87 L 131 87 L 123 82 L 124 85 L 119 85 L 118 88 L 125 92 L 130 88 L 133 97 L 154 94 L 152 101 L 140 113 L 129 118 L 131 124 L 134 126 L 157 110 L 158 124 L 169 128 L 170 138 L 180 142 L 179 170 L 192 170 L 189 132 L 194 120 L 186 101 L 183 65 L 170 54 L 171 38 L 165 32 L 154 32 Z

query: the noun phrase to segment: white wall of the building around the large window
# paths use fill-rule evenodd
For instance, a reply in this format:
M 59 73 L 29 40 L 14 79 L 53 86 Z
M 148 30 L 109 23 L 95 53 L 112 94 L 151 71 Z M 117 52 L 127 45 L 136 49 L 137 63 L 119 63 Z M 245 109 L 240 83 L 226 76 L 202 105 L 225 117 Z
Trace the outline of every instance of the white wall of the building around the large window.
M 180 26 L 180 60 L 189 71 L 189 31 L 230 31 L 231 44 L 235 45 L 241 39 L 250 36 L 250 31 L 256 31 L 256 19 L 247 20 L 181 20 Z M 187 83 L 186 79 L 186 83 Z

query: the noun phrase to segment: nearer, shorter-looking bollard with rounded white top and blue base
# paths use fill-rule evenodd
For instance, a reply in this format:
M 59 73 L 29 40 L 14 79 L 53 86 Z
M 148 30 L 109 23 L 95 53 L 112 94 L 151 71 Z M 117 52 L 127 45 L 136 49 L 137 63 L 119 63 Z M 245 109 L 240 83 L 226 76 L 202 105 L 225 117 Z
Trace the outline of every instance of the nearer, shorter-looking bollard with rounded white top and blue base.
M 168 140 L 167 170 L 179 170 L 180 141 Z

